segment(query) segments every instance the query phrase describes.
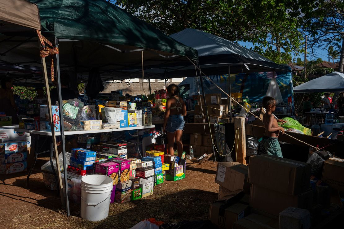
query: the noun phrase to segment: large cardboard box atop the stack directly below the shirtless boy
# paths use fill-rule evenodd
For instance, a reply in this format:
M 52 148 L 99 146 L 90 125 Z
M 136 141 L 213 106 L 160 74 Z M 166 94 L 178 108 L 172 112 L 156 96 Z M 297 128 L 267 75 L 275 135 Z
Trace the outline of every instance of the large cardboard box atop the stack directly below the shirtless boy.
M 248 182 L 297 195 L 309 189 L 311 165 L 269 155 L 250 157 Z

